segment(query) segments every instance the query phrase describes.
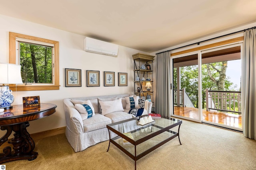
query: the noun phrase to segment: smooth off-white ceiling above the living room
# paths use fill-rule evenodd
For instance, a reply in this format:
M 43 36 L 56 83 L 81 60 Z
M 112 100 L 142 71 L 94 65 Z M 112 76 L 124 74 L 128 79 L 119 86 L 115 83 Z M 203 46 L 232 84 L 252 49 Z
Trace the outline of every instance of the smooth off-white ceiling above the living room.
M 256 0 L 1 0 L 0 14 L 150 53 L 254 23 L 255 7 Z

